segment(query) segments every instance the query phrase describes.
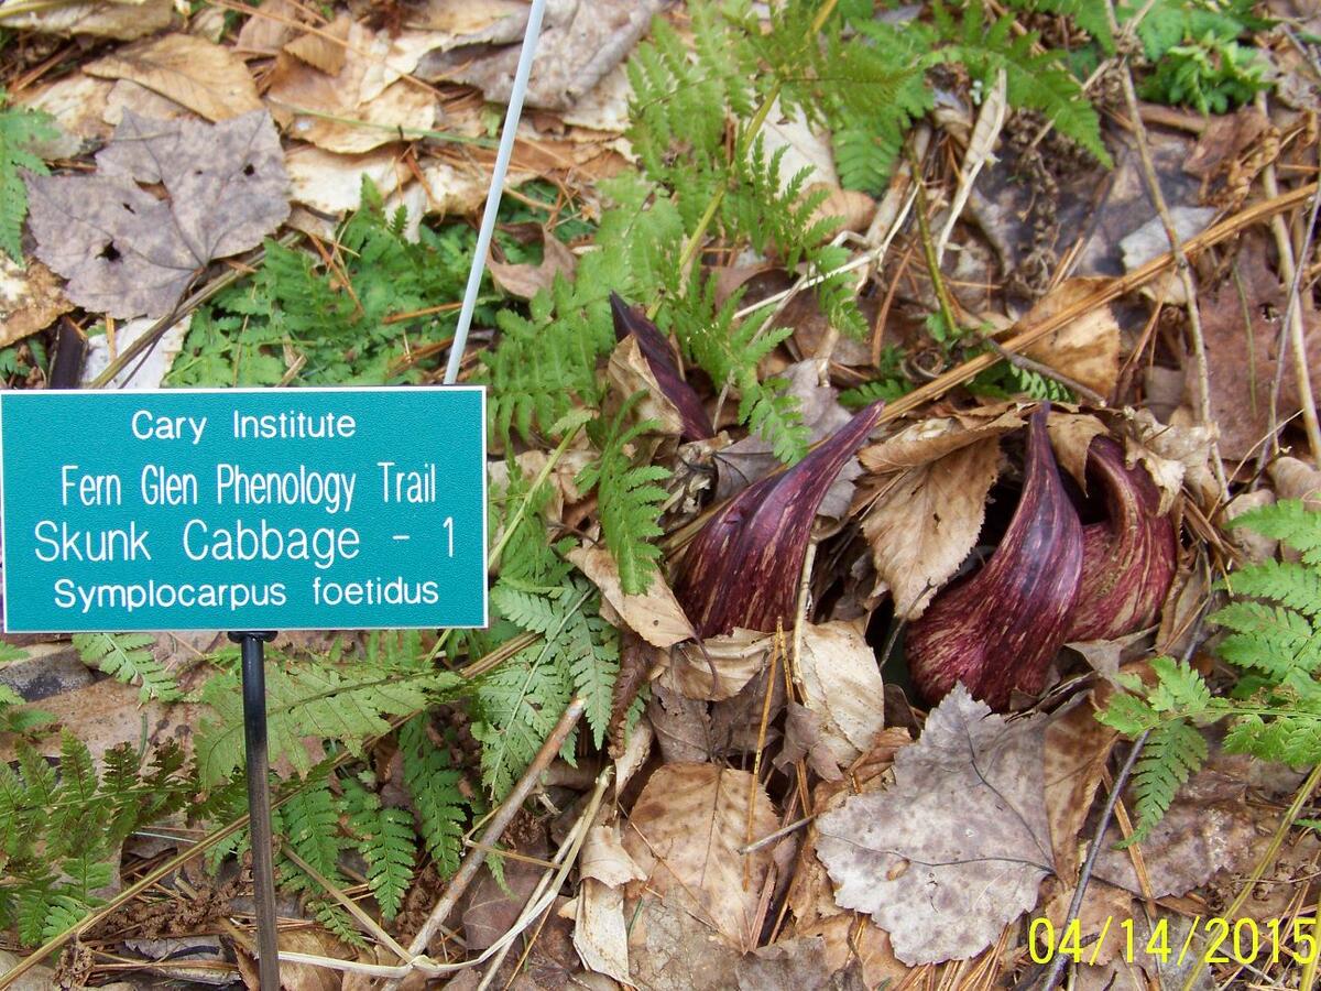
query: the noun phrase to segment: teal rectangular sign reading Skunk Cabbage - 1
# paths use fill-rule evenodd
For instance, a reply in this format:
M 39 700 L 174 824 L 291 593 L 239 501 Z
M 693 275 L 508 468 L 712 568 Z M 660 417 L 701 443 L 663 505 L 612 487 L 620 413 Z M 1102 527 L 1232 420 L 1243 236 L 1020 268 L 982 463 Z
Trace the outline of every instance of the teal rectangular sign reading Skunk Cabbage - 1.
M 476 387 L 0 392 L 12 633 L 486 625 Z

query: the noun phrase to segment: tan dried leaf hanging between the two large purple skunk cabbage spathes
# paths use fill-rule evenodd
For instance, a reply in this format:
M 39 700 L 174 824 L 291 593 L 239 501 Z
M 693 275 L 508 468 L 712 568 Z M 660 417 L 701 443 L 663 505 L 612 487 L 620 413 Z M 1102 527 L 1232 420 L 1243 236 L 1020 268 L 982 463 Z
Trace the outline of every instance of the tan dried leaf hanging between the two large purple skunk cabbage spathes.
M 896 614 L 921 616 L 968 556 L 999 461 L 1000 444 L 991 436 L 882 482 L 863 532 L 876 573 L 894 596 Z

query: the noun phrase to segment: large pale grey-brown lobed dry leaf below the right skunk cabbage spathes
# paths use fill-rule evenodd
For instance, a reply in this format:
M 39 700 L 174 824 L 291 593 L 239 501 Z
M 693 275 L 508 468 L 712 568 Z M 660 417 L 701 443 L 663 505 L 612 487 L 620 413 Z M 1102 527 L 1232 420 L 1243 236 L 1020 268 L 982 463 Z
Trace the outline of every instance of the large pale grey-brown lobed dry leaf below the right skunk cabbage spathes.
M 972 957 L 1053 872 L 1045 723 L 1008 723 L 962 684 L 894 757 L 894 785 L 820 817 L 816 856 L 841 908 L 871 913 L 908 965 Z

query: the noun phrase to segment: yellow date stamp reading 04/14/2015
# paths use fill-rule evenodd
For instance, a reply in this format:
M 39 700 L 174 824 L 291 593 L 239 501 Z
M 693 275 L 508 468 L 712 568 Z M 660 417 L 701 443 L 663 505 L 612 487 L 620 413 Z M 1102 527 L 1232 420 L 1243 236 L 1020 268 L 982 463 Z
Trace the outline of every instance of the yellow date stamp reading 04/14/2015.
M 1096 963 L 1107 946 L 1127 963 L 1160 962 L 1176 967 L 1194 959 L 1209 965 L 1308 965 L 1321 951 L 1316 916 L 1264 921 L 1194 916 L 1186 933 L 1173 933 L 1168 918 L 1148 928 L 1132 918 L 1107 917 L 1099 929 L 1089 929 L 1092 932 L 1083 933 L 1077 918 L 1063 928 L 1049 918 L 1032 920 L 1028 926 L 1032 962 L 1049 963 L 1063 955 L 1074 963 Z

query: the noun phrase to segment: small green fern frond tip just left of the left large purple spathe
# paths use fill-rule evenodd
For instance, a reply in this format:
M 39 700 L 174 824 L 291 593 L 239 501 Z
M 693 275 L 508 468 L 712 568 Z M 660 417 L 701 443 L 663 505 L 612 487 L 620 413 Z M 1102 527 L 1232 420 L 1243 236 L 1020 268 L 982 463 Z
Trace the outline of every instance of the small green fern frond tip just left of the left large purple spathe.
M 608 424 L 588 427 L 601 455 L 579 472 L 575 482 L 583 492 L 597 490 L 601 531 L 620 568 L 625 595 L 642 595 L 651 585 L 660 560 L 660 548 L 653 540 L 663 534 L 657 519 L 670 498 L 657 485 L 670 477 L 668 469 L 633 462 L 634 441 L 658 425 L 655 420 L 627 423 L 638 399 L 641 394 L 630 396 Z

